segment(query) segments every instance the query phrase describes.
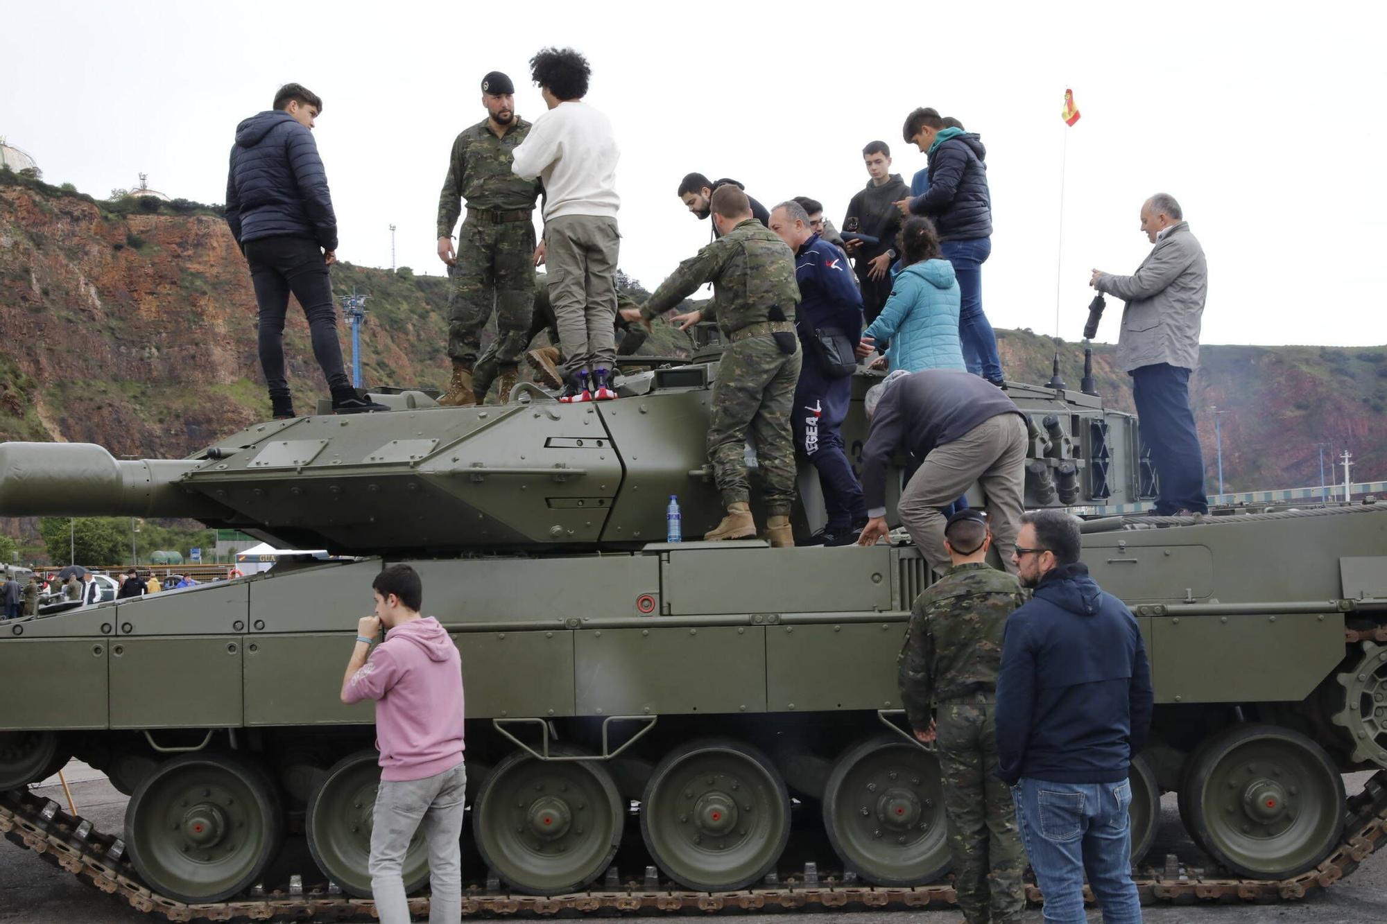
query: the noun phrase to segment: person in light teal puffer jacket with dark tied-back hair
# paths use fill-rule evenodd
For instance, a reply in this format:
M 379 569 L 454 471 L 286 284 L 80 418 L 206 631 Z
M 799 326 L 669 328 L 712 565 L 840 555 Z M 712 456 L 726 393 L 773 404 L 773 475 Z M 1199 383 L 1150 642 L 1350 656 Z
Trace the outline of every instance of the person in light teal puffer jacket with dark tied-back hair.
M 900 251 L 904 269 L 877 320 L 863 332 L 857 355 L 870 355 L 878 343 L 890 341 L 886 361 L 892 369 L 967 370 L 958 343 L 958 279 L 953 264 L 939 254 L 933 223 L 928 218 L 906 222 Z

